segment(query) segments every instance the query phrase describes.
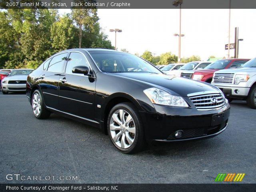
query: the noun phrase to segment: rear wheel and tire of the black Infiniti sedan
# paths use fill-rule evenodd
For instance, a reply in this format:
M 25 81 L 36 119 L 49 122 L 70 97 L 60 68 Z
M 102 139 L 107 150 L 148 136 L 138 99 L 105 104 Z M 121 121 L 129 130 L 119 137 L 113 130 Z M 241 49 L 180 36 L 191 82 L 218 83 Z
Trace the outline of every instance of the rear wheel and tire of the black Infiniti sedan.
M 50 112 L 44 106 L 44 100 L 39 90 L 35 90 L 32 95 L 32 111 L 36 118 L 46 119 L 50 116 Z

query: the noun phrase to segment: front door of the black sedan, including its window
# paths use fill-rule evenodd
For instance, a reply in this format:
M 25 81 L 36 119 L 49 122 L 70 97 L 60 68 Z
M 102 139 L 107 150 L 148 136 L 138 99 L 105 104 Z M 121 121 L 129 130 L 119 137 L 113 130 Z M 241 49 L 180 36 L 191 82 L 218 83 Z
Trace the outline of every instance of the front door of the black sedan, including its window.
M 87 66 L 90 69 L 84 54 L 70 53 L 59 81 L 60 110 L 93 121 L 96 79 L 94 76 L 72 73 L 72 68 L 75 66 Z M 90 70 L 89 73 L 92 71 Z

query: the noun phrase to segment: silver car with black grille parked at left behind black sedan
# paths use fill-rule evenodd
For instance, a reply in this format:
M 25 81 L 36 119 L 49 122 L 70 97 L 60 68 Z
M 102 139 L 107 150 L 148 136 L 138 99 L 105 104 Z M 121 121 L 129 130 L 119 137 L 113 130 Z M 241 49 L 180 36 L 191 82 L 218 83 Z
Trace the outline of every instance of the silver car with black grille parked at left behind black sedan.
M 2 80 L 1 87 L 3 94 L 15 91 L 26 91 L 27 77 L 32 71 L 33 69 L 13 70 L 8 77 Z

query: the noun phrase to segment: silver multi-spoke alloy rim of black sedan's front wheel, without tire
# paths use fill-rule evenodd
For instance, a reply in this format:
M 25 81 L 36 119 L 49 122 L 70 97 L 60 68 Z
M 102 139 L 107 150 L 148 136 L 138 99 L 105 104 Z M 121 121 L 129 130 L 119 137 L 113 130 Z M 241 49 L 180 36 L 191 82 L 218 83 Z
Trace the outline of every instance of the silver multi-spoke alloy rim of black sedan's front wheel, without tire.
M 136 134 L 134 120 L 126 110 L 116 110 L 110 119 L 111 138 L 120 148 L 132 146 Z

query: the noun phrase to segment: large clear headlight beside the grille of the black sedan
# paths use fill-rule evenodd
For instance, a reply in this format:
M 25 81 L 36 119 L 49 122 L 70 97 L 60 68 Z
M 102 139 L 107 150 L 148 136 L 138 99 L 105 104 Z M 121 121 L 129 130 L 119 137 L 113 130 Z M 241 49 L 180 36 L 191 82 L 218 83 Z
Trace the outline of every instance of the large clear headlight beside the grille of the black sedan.
M 188 107 L 188 104 L 181 96 L 171 95 L 158 88 L 149 88 L 143 91 L 152 103 L 176 107 Z

